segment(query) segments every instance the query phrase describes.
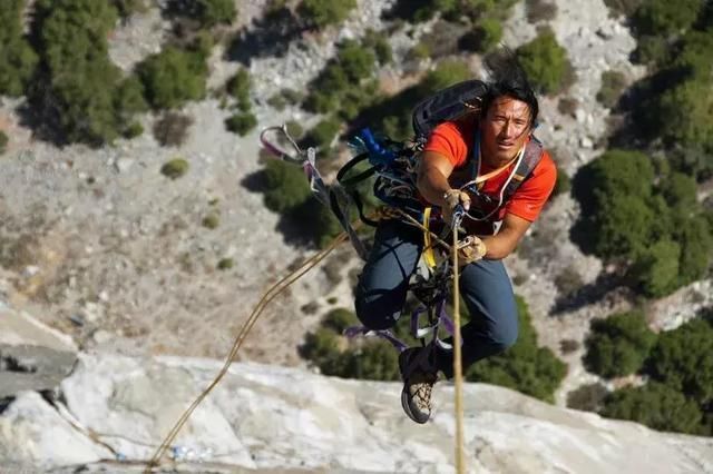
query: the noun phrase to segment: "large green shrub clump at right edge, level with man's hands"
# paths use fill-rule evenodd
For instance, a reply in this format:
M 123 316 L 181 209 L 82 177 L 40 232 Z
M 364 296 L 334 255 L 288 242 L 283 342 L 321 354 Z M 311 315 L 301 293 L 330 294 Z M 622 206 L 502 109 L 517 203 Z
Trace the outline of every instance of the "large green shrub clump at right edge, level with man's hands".
M 647 296 L 701 278 L 713 257 L 713 229 L 702 218 L 694 179 L 658 168 L 654 187 L 648 157 L 611 150 L 580 168 L 574 182 L 582 216 L 573 237 L 628 268 L 629 282 Z

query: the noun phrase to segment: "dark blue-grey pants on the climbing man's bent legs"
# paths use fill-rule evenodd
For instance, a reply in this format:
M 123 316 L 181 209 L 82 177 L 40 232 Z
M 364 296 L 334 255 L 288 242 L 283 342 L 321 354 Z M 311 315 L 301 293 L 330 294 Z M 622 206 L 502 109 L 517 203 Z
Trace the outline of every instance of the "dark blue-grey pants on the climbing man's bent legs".
M 406 303 L 409 278 L 423 250 L 423 234 L 398 220 L 381 221 L 356 287 L 356 316 L 370 329 L 392 327 Z M 466 368 L 515 344 L 517 306 L 501 260 L 479 260 L 460 269 L 460 294 L 470 322 L 461 329 Z M 452 376 L 452 354 L 439 350 L 438 368 Z

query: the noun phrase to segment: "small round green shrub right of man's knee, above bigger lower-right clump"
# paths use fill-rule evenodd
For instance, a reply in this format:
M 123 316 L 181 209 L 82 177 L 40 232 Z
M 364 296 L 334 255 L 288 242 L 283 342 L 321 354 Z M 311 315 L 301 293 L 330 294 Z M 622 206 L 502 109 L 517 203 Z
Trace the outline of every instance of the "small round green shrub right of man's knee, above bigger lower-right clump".
M 656 342 L 641 312 L 621 313 L 594 319 L 585 340 L 587 371 L 606 378 L 638 372 Z

